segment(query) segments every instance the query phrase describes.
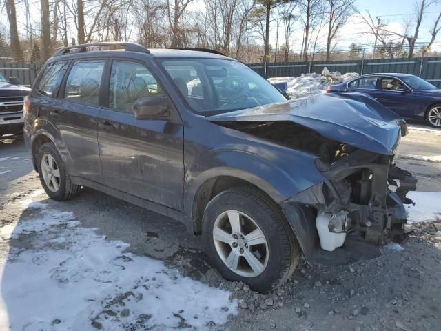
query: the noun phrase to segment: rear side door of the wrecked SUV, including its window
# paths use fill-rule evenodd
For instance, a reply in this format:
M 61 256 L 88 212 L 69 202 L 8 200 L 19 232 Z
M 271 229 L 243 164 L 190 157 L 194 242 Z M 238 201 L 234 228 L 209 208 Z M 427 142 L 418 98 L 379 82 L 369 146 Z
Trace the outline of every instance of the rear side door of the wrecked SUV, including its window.
M 105 59 L 81 59 L 70 63 L 57 104 L 51 107 L 53 122 L 63 139 L 72 176 L 101 182 L 98 151 L 99 97 Z

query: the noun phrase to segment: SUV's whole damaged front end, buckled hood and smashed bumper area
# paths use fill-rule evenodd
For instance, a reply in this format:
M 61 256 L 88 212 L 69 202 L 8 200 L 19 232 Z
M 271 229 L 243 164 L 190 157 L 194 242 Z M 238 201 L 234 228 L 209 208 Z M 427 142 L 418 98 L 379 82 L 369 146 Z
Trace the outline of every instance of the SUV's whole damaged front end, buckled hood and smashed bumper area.
M 309 263 L 338 265 L 400 240 L 416 178 L 393 162 L 406 123 L 362 95 L 327 94 L 210 117 L 254 137 L 316 156 L 319 183 L 280 203 Z M 295 165 L 293 165 L 295 167 Z M 298 173 L 298 177 L 307 177 Z

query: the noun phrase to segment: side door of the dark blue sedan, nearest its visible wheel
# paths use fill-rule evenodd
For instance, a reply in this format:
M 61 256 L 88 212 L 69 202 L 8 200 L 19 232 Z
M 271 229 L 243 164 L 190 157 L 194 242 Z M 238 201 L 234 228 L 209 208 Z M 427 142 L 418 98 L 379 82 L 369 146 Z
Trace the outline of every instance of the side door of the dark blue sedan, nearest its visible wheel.
M 397 91 L 399 86 L 406 90 Z M 412 117 L 418 109 L 416 94 L 396 77 L 380 77 L 376 99 L 402 117 Z

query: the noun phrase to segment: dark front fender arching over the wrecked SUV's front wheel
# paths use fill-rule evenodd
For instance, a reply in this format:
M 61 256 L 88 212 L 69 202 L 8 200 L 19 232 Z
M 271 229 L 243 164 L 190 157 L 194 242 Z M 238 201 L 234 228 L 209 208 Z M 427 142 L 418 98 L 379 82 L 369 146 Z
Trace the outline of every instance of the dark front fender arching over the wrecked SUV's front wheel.
M 252 183 L 276 203 L 325 180 L 316 168 L 316 157 L 311 154 L 275 145 L 234 144 L 224 147 L 201 155 L 187 171 L 186 208 L 192 205 L 203 183 L 219 176 L 236 177 Z

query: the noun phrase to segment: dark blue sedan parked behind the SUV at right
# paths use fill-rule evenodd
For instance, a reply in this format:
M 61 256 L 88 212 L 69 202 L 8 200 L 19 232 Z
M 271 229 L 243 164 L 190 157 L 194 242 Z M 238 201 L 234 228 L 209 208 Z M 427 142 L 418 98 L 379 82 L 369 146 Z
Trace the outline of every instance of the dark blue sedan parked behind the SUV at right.
M 401 117 L 441 128 L 441 89 L 412 74 L 365 74 L 327 92 L 366 93 Z

